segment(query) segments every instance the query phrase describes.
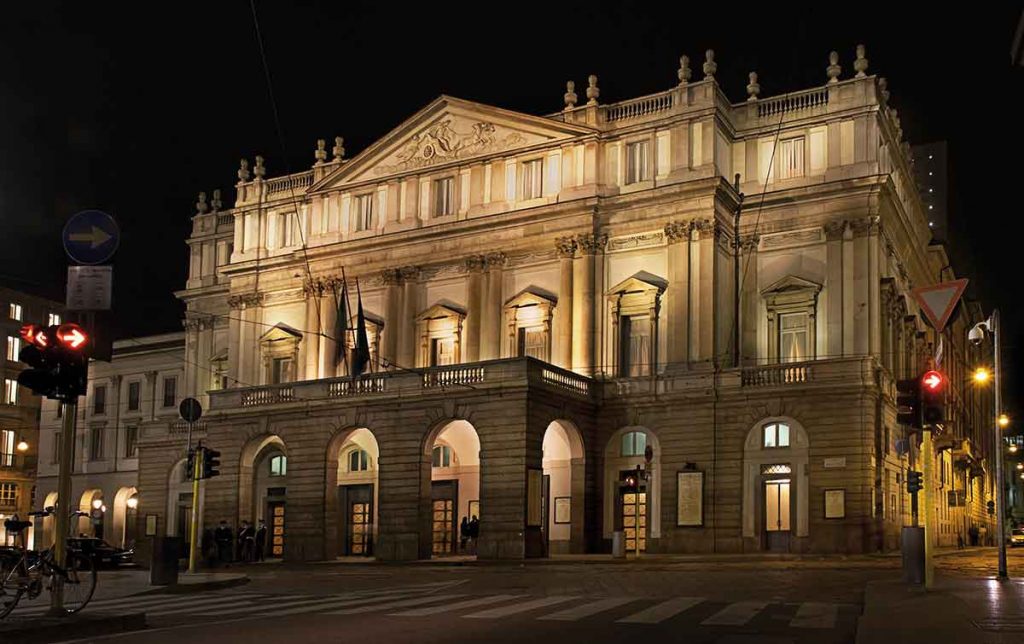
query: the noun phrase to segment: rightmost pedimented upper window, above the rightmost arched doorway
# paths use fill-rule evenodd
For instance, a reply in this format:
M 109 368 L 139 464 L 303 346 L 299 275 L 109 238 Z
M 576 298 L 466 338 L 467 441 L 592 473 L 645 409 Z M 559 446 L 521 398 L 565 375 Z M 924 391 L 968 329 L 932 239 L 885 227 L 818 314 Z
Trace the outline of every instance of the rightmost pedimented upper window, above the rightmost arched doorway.
M 802 362 L 815 355 L 815 317 L 821 285 L 783 277 L 761 292 L 768 313 L 770 362 Z

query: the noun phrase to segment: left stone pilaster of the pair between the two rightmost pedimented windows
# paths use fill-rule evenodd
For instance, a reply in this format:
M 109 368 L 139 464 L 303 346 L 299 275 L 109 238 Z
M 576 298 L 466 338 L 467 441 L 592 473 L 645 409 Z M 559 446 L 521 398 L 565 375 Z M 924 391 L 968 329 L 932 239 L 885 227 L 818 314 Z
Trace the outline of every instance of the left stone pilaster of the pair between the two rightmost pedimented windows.
M 665 238 L 669 242 L 669 288 L 666 290 L 669 323 L 663 335 L 667 341 L 669 371 L 686 369 L 689 361 L 690 227 L 689 221 L 673 221 L 665 226 Z

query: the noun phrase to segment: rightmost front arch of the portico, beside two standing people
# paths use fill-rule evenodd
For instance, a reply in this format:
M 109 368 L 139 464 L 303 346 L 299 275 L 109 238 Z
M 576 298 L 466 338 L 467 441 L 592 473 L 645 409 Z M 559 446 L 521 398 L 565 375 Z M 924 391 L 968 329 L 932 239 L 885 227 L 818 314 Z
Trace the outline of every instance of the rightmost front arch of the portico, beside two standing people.
M 426 441 L 430 466 L 430 554 L 447 557 L 475 554 L 475 540 L 460 539 L 463 517 L 480 514 L 480 438 L 467 421 L 455 420 L 436 427 Z

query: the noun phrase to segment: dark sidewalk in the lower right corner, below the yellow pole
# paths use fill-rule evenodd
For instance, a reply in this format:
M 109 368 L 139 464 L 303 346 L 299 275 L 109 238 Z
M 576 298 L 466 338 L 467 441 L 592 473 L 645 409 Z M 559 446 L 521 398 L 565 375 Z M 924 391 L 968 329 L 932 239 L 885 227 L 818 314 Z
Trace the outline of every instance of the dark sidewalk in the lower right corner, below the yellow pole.
M 857 644 L 1024 641 L 1024 581 L 936 574 L 924 592 L 901 581 L 869 582 Z

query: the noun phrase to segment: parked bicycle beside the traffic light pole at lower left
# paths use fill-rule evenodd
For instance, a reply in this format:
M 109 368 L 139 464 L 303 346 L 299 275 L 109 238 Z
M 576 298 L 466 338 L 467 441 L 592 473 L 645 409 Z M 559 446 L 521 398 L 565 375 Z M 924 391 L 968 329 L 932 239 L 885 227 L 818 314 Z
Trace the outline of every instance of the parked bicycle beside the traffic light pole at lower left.
M 48 517 L 53 514 L 53 508 L 30 512 L 29 516 Z M 84 512 L 75 511 L 72 518 L 87 516 Z M 69 549 L 63 567 L 54 560 L 52 548 L 43 551 L 25 548 L 25 530 L 32 525 L 31 521 L 18 520 L 16 516 L 4 521 L 8 534 L 22 538 L 22 547 L 0 546 L 0 619 L 14 610 L 22 597 L 28 595 L 30 600 L 36 599 L 43 590 L 50 593 L 54 590 L 54 581 L 59 578 L 63 592 L 63 609 L 68 614 L 76 613 L 89 603 L 96 590 L 96 566 L 93 560 L 82 552 Z

